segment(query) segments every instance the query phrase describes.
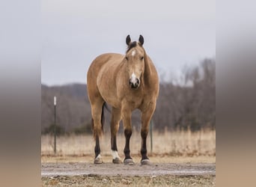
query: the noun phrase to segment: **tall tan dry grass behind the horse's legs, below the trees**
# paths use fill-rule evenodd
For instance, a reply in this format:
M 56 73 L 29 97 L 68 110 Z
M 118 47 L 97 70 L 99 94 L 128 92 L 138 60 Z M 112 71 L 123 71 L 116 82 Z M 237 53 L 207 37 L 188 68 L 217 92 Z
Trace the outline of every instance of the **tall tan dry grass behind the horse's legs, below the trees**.
M 41 136 L 42 156 L 94 156 L 94 138 L 92 135 L 64 135 L 57 138 L 57 153 L 53 152 L 54 138 Z M 118 135 L 120 156 L 124 156 L 124 134 Z M 110 135 L 106 133 L 100 140 L 101 154 L 111 155 Z M 130 140 L 132 156 L 139 156 L 141 136 L 133 132 Z M 214 156 L 216 155 L 216 131 L 201 132 L 153 132 L 153 150 L 150 150 L 150 135 L 147 138 L 147 151 L 150 156 Z

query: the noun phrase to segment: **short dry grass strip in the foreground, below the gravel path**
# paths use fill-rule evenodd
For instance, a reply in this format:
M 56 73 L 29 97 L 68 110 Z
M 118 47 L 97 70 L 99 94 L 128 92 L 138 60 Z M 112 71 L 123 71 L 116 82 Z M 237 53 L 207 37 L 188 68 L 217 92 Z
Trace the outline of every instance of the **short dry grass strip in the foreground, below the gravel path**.
M 57 176 L 42 177 L 42 186 L 216 186 L 215 176 Z

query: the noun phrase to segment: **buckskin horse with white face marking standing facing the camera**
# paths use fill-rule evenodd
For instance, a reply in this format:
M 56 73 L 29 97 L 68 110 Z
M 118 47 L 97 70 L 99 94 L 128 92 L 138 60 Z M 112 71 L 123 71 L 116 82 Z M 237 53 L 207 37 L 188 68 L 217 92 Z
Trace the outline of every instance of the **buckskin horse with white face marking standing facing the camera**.
M 147 157 L 147 134 L 150 119 L 159 95 L 159 78 L 153 62 L 143 47 L 144 38 L 138 42 L 129 35 L 126 38 L 125 55 L 106 53 L 92 61 L 87 73 L 88 97 L 91 102 L 92 126 L 96 142 L 94 164 L 103 163 L 100 156 L 100 136 L 103 132 L 103 108 L 105 102 L 112 106 L 111 149 L 113 163 L 121 163 L 118 155 L 117 132 L 123 120 L 126 143 L 124 164 L 134 165 L 129 150 L 132 135 L 132 111 L 141 111 L 141 165 L 149 165 Z

